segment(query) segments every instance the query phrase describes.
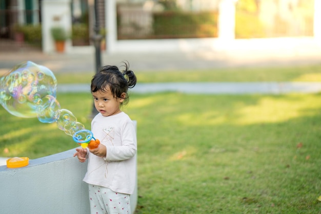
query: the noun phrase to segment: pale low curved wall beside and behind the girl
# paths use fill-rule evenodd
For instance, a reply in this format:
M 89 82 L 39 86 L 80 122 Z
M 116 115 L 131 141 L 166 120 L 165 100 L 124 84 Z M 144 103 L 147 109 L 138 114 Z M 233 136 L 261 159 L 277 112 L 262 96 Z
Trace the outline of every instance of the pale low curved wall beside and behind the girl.
M 22 168 L 0 166 L 0 213 L 90 213 L 88 185 L 83 182 L 87 162 L 80 163 L 74 153 L 71 149 L 29 160 L 29 165 Z M 134 213 L 137 179 L 130 200 Z

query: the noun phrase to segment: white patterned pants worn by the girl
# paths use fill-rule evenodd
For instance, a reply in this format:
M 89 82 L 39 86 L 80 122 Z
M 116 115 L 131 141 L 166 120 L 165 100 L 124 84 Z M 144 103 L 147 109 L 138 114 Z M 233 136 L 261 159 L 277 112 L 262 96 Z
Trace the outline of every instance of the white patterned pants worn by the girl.
M 89 184 L 91 214 L 130 214 L 129 194 Z

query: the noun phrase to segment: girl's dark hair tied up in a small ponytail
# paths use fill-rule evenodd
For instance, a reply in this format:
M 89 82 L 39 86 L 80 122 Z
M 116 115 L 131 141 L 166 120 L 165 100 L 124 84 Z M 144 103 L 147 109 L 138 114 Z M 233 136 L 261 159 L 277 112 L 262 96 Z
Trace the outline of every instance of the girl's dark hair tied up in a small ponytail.
M 121 98 L 122 93 L 126 93 L 126 98 L 122 105 L 126 105 L 129 101 L 127 93 L 128 88 L 136 85 L 137 79 L 132 70 L 129 70 L 129 64 L 124 62 L 125 69 L 119 71 L 116 66 L 103 66 L 99 69 L 91 80 L 91 92 L 107 91 L 109 87 L 115 98 Z

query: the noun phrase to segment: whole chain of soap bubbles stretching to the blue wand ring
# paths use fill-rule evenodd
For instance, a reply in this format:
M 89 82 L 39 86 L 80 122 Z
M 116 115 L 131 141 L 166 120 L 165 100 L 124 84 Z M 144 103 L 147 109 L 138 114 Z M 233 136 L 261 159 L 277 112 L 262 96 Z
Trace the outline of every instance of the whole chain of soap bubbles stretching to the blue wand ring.
M 27 61 L 1 77 L 0 104 L 15 116 L 36 117 L 42 123 L 56 122 L 58 128 L 73 136 L 77 143 L 88 143 L 94 139 L 71 111 L 61 109 L 56 100 L 56 90 L 57 80 L 52 71 Z

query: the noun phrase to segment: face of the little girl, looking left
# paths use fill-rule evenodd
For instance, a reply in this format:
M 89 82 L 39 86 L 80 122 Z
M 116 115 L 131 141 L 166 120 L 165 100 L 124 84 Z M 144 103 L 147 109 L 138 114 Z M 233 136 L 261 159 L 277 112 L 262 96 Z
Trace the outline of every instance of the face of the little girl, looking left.
M 103 116 L 111 116 L 121 112 L 120 106 L 123 103 L 126 94 L 122 94 L 122 98 L 114 98 L 110 88 L 105 91 L 92 92 L 94 98 L 94 105 L 98 112 Z

